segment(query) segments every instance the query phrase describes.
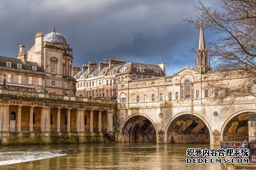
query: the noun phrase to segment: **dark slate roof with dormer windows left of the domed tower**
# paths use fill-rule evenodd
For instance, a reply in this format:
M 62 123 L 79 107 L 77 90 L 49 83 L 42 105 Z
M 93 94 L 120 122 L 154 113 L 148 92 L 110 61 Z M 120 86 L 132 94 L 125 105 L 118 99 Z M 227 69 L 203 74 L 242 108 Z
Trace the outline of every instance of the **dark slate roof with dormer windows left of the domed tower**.
M 32 66 L 36 66 L 36 71 L 44 72 L 44 68 L 40 67 L 36 62 L 27 61 L 26 64 L 24 64 L 21 59 L 0 56 L 0 66 L 7 67 L 6 62 L 11 62 L 11 68 L 13 69 L 18 69 L 17 64 L 21 64 L 21 69 L 33 71 Z

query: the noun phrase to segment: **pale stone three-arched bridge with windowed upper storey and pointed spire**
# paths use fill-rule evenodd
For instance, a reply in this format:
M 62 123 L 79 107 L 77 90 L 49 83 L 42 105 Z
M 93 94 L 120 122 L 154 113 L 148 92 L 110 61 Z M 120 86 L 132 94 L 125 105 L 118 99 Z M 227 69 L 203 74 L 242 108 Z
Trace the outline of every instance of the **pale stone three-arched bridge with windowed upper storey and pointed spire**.
M 245 71 L 212 71 L 203 27 L 195 68 L 118 84 L 118 141 L 211 143 L 255 139 L 255 84 Z M 229 94 L 244 87 L 244 96 Z M 225 94 L 225 95 L 223 95 Z

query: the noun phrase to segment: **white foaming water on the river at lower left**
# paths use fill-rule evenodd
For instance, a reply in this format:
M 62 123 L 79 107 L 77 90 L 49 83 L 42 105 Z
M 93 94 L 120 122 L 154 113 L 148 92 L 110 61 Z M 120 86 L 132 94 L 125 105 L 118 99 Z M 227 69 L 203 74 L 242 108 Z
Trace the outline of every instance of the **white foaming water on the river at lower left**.
M 67 155 L 60 152 L 61 150 L 0 152 L 0 166 Z

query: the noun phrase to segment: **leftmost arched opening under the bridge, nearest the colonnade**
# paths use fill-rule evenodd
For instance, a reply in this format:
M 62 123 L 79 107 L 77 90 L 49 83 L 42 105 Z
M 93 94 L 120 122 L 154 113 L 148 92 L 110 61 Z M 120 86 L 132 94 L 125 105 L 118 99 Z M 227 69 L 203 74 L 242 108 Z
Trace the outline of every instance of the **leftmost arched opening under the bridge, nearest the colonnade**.
M 156 129 L 148 118 L 136 115 L 125 122 L 121 140 L 124 142 L 156 142 Z

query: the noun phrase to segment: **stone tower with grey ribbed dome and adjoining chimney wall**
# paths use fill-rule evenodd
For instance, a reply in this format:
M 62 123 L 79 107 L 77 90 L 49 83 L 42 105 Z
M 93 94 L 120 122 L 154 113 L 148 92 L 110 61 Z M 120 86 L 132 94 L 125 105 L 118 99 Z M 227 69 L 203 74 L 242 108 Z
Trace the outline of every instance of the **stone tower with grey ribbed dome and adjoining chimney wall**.
M 45 69 L 45 90 L 56 94 L 74 95 L 76 80 L 72 77 L 72 48 L 55 28 L 52 32 L 36 33 L 35 45 L 28 51 L 28 61 Z

